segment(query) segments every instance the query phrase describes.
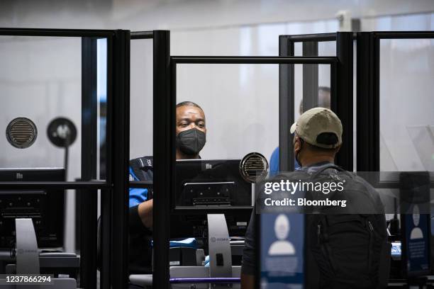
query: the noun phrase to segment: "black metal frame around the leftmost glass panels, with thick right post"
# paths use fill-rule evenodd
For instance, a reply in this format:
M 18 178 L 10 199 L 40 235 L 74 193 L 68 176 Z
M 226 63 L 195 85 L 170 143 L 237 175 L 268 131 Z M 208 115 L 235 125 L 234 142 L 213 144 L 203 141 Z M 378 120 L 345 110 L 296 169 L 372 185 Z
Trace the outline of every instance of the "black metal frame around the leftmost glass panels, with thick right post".
M 105 217 L 102 224 L 102 251 L 103 262 L 101 268 L 101 288 L 125 288 L 128 282 L 127 256 L 128 256 L 128 108 L 129 108 L 129 42 L 128 30 L 72 30 L 72 29 L 27 29 L 27 28 L 0 28 L 0 35 L 27 36 L 27 37 L 79 37 L 83 39 L 83 86 L 82 100 L 85 108 L 94 108 L 95 99 L 94 77 L 95 55 L 94 40 L 107 39 L 107 178 L 106 181 L 93 181 L 95 179 L 96 162 L 88 166 L 94 157 L 94 139 L 88 139 L 94 126 L 84 130 L 84 149 L 89 149 L 87 157 L 82 163 L 82 179 L 76 182 L 0 182 L 0 189 L 80 189 L 89 198 L 86 210 L 82 216 L 95 217 L 96 221 L 96 192 L 101 194 L 101 214 Z M 88 66 L 89 65 L 89 66 Z M 87 97 L 91 97 L 88 99 Z M 116 96 L 116 97 L 114 97 Z M 116 140 L 116 142 L 113 142 Z M 85 156 L 83 156 L 85 157 Z M 83 208 L 84 209 L 84 208 Z M 113 217 L 115 216 L 116 217 Z M 108 220 L 108 221 L 107 221 Z M 96 222 L 82 223 L 82 232 L 89 233 L 87 242 L 82 243 L 82 277 L 86 288 L 95 288 L 96 285 Z M 90 242 L 89 242 L 90 240 Z M 83 262 L 86 262 L 84 264 Z

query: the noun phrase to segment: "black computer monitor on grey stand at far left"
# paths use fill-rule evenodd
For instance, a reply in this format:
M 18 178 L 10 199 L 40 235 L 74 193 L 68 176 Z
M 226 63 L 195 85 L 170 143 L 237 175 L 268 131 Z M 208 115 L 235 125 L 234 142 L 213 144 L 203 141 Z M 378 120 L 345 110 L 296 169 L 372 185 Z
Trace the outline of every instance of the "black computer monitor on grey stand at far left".
M 65 181 L 65 169 L 0 169 L 0 181 Z M 0 249 L 15 246 L 15 219 L 31 218 L 39 248 L 63 246 L 65 191 L 0 191 Z

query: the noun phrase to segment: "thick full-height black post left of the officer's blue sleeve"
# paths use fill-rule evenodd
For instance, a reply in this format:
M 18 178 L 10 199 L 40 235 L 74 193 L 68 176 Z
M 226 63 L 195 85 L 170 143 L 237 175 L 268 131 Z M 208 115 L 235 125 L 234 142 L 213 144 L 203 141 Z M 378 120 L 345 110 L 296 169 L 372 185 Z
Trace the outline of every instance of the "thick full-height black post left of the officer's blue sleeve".
M 128 286 L 128 159 L 130 150 L 130 31 L 116 30 L 113 38 L 113 113 L 111 147 L 112 288 Z M 104 220 L 105 221 L 105 220 Z

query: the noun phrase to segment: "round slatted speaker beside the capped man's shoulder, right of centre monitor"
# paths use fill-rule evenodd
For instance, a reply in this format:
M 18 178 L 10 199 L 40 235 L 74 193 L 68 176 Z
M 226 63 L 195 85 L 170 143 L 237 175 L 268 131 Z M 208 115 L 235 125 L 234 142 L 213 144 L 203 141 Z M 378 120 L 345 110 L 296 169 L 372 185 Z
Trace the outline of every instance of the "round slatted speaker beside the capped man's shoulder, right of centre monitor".
M 247 154 L 240 162 L 240 173 L 250 183 L 264 179 L 268 173 L 267 159 L 259 152 Z

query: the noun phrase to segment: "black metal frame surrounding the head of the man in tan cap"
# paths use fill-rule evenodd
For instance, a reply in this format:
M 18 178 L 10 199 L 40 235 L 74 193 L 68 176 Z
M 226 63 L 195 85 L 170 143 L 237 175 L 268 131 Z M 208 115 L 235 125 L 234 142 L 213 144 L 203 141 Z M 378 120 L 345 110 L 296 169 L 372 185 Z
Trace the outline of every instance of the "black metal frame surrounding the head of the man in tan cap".
M 330 73 L 331 108 L 343 123 L 343 145 L 336 157 L 336 164 L 352 171 L 352 72 L 353 40 L 355 33 L 338 32 L 306 35 L 280 35 L 279 56 L 294 56 L 295 42 L 303 43 L 304 56 L 318 56 L 318 42 L 336 41 L 337 74 Z M 332 69 L 330 67 L 330 69 Z M 338 81 L 338 79 L 343 81 Z M 279 165 L 280 171 L 294 170 L 292 135 L 285 128 L 294 123 L 294 66 L 282 65 L 279 74 Z M 303 106 L 318 105 L 318 66 L 303 69 Z

